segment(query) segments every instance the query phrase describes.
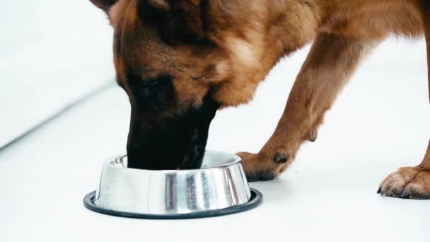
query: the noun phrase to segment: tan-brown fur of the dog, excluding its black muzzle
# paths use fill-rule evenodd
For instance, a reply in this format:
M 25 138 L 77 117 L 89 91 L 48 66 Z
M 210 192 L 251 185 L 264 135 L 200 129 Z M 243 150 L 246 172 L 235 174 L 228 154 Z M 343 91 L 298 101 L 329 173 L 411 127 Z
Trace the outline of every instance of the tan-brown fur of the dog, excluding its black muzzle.
M 150 65 L 146 75 L 168 71 L 178 76 L 175 89 L 184 103 L 199 105 L 209 88 L 215 88 L 214 99 L 221 105 L 240 105 L 251 100 L 281 57 L 313 42 L 274 134 L 258 154 L 239 153 L 254 180 L 276 177 L 304 141 L 316 139 L 325 111 L 361 59 L 386 37 L 419 38 L 425 33 L 430 56 L 427 0 L 146 0 L 156 9 L 174 11 L 172 6 L 177 6 L 190 15 L 192 21 L 182 28 L 216 45 L 199 54 L 190 45 L 165 47 L 153 40 L 143 47 L 132 41 L 154 31 L 137 17 L 136 1 L 98 4 L 108 12 L 115 33 L 122 35 L 123 52 L 115 55 L 115 67 L 126 90 L 126 67 L 145 64 Z M 421 165 L 391 174 L 380 192 L 430 198 L 430 144 Z

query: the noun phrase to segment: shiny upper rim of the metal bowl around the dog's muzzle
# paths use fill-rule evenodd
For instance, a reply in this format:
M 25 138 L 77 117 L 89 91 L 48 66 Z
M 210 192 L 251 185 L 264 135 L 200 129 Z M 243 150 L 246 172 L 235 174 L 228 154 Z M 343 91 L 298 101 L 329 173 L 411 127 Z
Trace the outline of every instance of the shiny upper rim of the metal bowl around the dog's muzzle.
M 231 158 L 234 159 L 234 161 L 222 164 L 221 166 L 211 166 L 211 167 L 204 167 L 204 168 L 197 168 L 197 169 L 148 170 L 148 169 L 129 168 L 129 167 L 124 167 L 124 166 L 112 165 L 112 161 L 117 163 L 117 159 L 123 159 L 124 157 L 127 156 L 127 154 L 121 154 L 121 155 L 112 156 L 112 157 L 108 158 L 105 161 L 105 165 L 111 166 L 112 168 L 127 169 L 129 171 L 156 172 L 156 173 L 193 173 L 193 172 L 199 172 L 199 171 L 207 171 L 207 170 L 211 170 L 211 169 L 228 168 L 229 166 L 235 165 L 237 163 L 242 164 L 242 159 L 240 159 L 240 157 L 236 154 L 232 154 L 232 153 L 228 153 L 228 152 L 224 152 L 224 151 L 212 151 L 212 150 L 206 150 L 205 154 L 206 154 L 206 152 L 217 153 L 217 154 L 226 154 L 228 156 L 231 156 Z

